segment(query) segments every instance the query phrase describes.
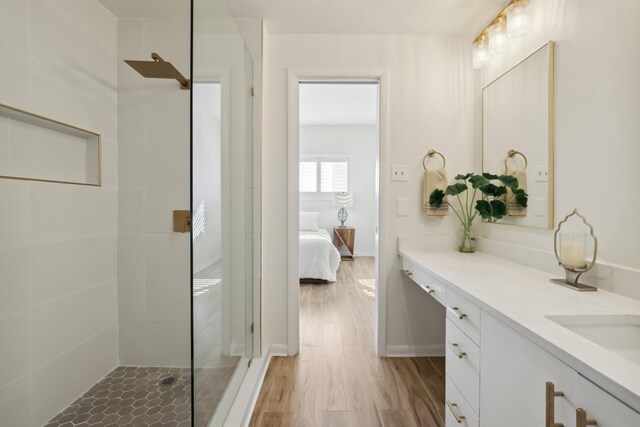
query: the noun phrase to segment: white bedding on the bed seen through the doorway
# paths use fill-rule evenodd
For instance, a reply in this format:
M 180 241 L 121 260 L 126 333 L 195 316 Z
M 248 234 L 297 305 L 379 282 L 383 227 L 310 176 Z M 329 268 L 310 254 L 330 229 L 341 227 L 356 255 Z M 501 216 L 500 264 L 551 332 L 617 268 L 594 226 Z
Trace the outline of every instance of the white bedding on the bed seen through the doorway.
M 299 267 L 301 279 L 336 281 L 340 252 L 325 229 L 300 231 Z

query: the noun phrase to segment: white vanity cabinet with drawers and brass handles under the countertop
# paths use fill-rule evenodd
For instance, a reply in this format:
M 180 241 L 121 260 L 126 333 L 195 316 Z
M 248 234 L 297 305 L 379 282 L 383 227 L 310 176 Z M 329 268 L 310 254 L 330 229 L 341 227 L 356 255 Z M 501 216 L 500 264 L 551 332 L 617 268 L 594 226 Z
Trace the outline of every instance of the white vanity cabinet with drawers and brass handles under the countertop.
M 472 300 L 466 282 L 442 268 L 435 274 L 428 261 L 403 257 L 402 266 L 446 308 L 447 427 L 640 427 L 640 413 L 531 341 L 494 305 Z

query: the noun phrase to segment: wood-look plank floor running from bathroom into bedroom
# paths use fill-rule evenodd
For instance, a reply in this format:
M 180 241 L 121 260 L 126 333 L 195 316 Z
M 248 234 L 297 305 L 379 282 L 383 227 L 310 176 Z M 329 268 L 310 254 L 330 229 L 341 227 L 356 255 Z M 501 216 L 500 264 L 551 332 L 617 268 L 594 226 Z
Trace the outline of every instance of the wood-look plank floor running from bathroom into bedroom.
M 271 360 L 250 426 L 444 427 L 444 358 L 375 355 L 373 277 L 359 257 L 300 285 L 300 354 Z

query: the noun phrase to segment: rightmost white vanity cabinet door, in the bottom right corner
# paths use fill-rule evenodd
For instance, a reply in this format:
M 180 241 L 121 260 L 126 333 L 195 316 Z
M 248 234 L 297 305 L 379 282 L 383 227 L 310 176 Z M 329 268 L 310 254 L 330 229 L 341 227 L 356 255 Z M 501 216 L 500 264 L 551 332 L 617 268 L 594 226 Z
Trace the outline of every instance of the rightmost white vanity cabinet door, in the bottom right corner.
M 598 427 L 640 426 L 639 413 L 581 375 L 577 388 L 577 411 L 583 410 L 585 418 L 595 420 Z

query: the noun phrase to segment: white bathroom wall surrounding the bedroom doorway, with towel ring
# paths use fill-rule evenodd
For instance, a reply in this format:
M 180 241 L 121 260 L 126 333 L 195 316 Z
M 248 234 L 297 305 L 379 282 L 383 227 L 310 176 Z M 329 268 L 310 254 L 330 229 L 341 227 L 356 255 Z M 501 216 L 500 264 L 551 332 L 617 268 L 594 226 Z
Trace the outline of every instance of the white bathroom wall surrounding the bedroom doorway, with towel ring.
M 454 37 L 266 34 L 263 149 L 263 349 L 287 344 L 287 68 L 388 69 L 390 164 L 408 166 L 407 182 L 389 183 L 387 244 L 388 351 L 442 345 L 441 307 L 403 279 L 397 237 L 445 234 L 453 218 L 425 219 L 421 212 L 422 157 L 434 148 L 450 171 L 473 165 L 473 78 L 470 43 Z M 410 214 L 396 217 L 396 198 Z M 409 348 L 411 346 L 411 348 Z

